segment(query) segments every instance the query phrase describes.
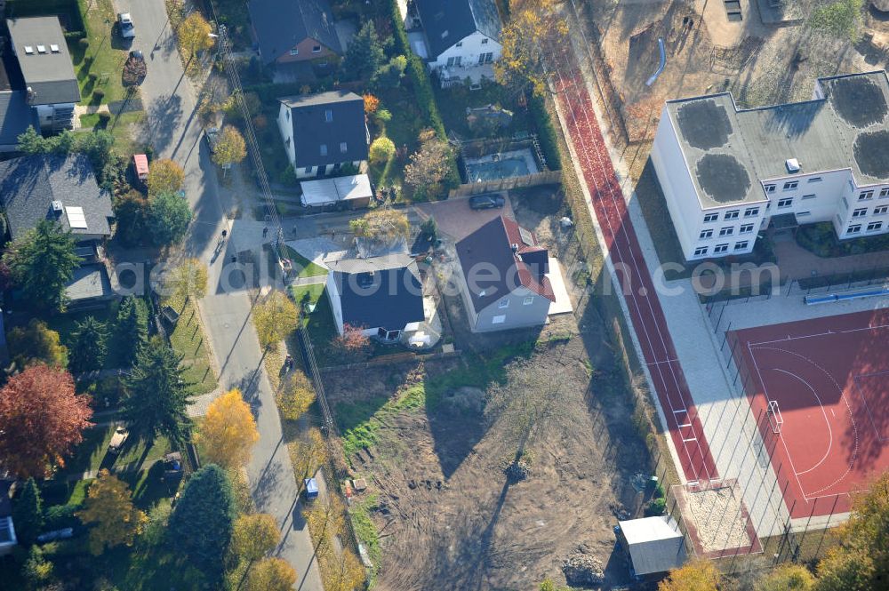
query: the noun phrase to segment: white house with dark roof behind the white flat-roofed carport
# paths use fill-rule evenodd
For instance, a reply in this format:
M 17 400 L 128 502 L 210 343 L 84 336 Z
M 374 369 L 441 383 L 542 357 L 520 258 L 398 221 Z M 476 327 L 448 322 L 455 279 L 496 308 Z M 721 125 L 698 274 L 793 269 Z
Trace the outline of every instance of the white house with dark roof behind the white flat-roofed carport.
M 364 99 L 355 92 L 319 92 L 278 99 L 278 129 L 298 179 L 338 176 L 344 164 L 360 169 L 371 135 Z

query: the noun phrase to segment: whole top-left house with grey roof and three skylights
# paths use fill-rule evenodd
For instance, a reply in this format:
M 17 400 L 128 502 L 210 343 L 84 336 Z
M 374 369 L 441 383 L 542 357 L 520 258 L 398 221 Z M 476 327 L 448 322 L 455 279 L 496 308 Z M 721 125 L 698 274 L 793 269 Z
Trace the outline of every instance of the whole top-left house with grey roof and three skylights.
M 59 18 L 7 19 L 6 27 L 24 78 L 26 102 L 41 131 L 71 129 L 80 88 Z

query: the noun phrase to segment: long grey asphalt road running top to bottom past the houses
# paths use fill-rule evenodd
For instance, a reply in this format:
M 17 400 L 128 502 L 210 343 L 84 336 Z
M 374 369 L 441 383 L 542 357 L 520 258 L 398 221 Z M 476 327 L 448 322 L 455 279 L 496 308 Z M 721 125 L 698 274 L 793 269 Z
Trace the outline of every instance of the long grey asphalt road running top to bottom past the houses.
M 237 204 L 236 191 L 220 186 L 196 116 L 196 92 L 184 76 L 167 22 L 164 0 L 116 0 L 116 9 L 130 12 L 136 27 L 132 49 L 144 52 L 148 75 L 141 85 L 148 111 L 148 139 L 157 157 L 172 158 L 185 170 L 185 191 L 196 219 L 186 239 L 186 255 L 209 265 L 209 288 L 200 301 L 220 385 L 240 387 L 251 403 L 260 441 L 247 467 L 257 510 L 274 515 L 281 524 L 282 542 L 276 555 L 297 571 L 297 588 L 323 591 L 314 547 L 300 515 L 299 488 L 293 477 L 272 388 L 262 364 L 256 331 L 250 320 L 252 299 L 244 275 L 232 265 L 235 249 L 259 252 L 261 222 L 244 218 L 228 222 L 231 239 L 226 252 L 214 256 L 218 236 L 227 223 L 224 212 Z

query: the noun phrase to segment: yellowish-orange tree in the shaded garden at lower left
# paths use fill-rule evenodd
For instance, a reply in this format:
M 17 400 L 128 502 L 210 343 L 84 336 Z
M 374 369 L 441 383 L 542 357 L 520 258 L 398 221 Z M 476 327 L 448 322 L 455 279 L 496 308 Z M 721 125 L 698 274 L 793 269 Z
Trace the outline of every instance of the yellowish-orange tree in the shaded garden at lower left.
M 92 555 L 122 544 L 132 546 L 148 523 L 148 516 L 132 506 L 130 489 L 105 469 L 100 470 L 99 477 L 90 484 L 84 508 L 76 515 L 84 524 L 92 525 L 89 541 Z

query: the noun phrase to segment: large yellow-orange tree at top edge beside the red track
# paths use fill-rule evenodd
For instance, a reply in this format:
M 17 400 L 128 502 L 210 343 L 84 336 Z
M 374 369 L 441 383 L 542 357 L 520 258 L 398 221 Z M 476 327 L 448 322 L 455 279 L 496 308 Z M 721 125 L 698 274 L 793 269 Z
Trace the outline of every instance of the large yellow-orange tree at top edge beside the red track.
M 535 94 L 547 91 L 547 72 L 555 52 L 568 48 L 568 24 L 555 0 L 513 3 L 512 16 L 501 32 L 502 52 L 494 62 L 498 83 L 524 91 L 530 84 Z

